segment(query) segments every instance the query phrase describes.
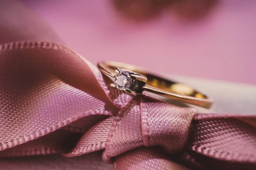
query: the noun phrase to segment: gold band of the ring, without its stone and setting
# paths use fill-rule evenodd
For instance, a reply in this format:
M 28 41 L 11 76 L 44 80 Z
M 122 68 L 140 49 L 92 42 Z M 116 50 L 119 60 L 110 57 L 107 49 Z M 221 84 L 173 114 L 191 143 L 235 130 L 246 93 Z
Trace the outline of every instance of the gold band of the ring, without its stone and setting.
M 146 85 L 143 87 L 145 91 L 203 108 L 210 108 L 212 105 L 211 99 L 191 86 L 171 81 L 156 74 L 151 74 L 150 71 L 146 71 L 144 68 L 121 62 L 99 62 L 98 67 L 100 71 L 111 77 L 116 75 L 114 71 L 115 68 L 124 68 L 147 77 Z

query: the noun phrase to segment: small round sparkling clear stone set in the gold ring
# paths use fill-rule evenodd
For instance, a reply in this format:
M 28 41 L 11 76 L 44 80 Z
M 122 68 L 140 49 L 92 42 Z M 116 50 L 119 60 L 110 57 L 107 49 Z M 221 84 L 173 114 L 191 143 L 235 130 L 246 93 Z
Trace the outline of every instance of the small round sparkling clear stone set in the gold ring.
M 129 75 L 128 71 L 121 71 L 117 74 L 114 82 L 116 88 L 119 90 L 129 89 L 132 83 L 132 79 L 128 77 Z

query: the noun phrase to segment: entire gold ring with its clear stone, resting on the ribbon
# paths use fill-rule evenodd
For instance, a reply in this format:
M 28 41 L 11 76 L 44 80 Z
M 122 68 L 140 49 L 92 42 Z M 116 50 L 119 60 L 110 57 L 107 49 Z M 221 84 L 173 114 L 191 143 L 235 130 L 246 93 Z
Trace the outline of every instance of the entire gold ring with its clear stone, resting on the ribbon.
M 144 68 L 121 62 L 99 62 L 98 68 L 103 74 L 115 79 L 112 87 L 131 94 L 148 91 L 203 108 L 210 108 L 212 105 L 209 97 L 191 86 L 151 74 Z

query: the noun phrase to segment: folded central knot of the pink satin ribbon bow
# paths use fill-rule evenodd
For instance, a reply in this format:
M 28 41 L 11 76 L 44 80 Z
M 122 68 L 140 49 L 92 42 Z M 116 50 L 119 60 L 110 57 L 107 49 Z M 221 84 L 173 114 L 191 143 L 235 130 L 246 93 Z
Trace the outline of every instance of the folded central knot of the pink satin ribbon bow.
M 114 119 L 105 153 L 117 156 L 141 146 L 177 153 L 185 146 L 194 108 L 180 108 L 151 97 L 134 97 Z

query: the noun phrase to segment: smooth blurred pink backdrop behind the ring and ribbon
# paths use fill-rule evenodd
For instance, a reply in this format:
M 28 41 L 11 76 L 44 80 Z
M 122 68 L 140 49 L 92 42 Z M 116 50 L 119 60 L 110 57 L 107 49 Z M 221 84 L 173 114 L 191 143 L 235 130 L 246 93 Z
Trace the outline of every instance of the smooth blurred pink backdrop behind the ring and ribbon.
M 256 0 L 219 0 L 202 20 L 170 11 L 125 21 L 110 0 L 20 0 L 93 64 L 129 62 L 173 75 L 256 84 Z

